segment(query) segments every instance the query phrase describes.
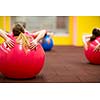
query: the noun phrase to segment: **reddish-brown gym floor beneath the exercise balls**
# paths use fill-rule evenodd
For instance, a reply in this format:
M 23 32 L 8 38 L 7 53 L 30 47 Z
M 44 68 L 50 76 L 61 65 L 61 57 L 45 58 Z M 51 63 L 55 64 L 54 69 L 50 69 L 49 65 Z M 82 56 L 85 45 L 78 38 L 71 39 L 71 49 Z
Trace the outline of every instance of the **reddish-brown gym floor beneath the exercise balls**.
M 9 79 L 0 73 L 1 83 L 99 83 L 100 65 L 90 64 L 83 47 L 54 46 L 46 52 L 41 72 L 31 79 Z

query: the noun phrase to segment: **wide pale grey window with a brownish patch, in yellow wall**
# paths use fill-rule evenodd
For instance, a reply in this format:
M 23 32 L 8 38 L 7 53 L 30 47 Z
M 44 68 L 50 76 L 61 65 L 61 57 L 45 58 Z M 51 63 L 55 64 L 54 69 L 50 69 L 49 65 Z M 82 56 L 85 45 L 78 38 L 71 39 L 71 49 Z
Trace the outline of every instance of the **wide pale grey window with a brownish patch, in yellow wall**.
M 11 22 L 24 22 L 30 32 L 46 29 L 55 34 L 68 33 L 68 16 L 12 16 Z

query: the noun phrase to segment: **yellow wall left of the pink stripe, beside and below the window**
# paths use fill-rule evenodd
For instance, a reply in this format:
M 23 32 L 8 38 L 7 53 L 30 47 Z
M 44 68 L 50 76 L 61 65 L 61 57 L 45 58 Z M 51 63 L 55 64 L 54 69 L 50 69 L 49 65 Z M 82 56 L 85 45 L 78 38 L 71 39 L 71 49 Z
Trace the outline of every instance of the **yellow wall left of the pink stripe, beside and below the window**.
M 10 22 L 11 19 L 9 16 L 0 16 L 0 28 L 10 32 Z M 64 36 L 54 36 L 53 41 L 54 45 L 72 45 L 72 36 L 73 36 L 73 17 L 69 17 L 69 33 Z M 0 38 L 0 43 L 3 42 L 3 39 Z

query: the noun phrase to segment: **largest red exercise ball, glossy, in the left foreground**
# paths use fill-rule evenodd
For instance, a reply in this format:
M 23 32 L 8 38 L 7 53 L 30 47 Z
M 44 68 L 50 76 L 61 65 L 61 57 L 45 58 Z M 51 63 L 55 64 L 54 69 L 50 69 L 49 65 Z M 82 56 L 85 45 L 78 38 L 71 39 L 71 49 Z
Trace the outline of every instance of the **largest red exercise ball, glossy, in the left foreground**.
M 0 46 L 0 70 L 8 78 L 32 78 L 41 71 L 44 61 L 45 53 L 40 44 L 27 52 L 18 43 L 12 49 L 7 48 L 5 43 Z

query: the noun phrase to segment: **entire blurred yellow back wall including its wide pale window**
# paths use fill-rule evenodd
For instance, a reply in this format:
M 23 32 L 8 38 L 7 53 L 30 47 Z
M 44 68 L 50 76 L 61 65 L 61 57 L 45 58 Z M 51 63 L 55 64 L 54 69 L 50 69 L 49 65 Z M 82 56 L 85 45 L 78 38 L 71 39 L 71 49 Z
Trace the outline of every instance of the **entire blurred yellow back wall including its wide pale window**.
M 83 46 L 82 35 L 100 27 L 100 16 L 0 16 L 0 29 L 11 32 L 17 22 L 24 23 L 29 32 L 54 32 L 54 45 Z

